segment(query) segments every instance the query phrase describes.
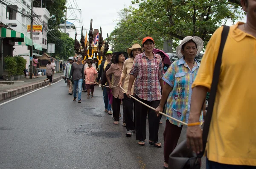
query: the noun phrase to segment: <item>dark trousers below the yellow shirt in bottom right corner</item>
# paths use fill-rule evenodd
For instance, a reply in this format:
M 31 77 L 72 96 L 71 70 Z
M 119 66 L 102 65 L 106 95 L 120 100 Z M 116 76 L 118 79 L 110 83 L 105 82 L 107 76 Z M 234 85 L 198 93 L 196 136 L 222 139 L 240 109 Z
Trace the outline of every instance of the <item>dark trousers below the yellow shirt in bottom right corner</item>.
M 256 166 L 238 166 L 238 165 L 229 165 L 221 164 L 206 159 L 206 169 L 256 169 Z

